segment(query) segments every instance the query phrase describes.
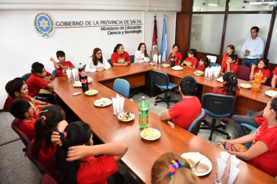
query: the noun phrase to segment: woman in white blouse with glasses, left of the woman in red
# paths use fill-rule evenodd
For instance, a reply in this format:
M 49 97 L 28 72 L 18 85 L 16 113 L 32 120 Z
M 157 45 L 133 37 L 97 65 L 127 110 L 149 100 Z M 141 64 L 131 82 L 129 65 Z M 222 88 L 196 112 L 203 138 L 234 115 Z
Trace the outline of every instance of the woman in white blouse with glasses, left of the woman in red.
M 85 68 L 86 72 L 101 72 L 103 70 L 108 70 L 111 68 L 110 63 L 103 57 L 102 51 L 100 48 L 94 48 L 92 56 Z

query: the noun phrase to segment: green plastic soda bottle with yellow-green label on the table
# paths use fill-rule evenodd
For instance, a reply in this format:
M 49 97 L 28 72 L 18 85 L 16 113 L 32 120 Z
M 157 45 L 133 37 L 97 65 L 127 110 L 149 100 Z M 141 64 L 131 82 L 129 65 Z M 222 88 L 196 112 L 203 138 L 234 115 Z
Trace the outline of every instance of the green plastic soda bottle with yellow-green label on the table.
M 149 105 L 145 101 L 145 96 L 142 96 L 139 102 L 139 128 L 146 129 L 148 127 L 148 109 Z

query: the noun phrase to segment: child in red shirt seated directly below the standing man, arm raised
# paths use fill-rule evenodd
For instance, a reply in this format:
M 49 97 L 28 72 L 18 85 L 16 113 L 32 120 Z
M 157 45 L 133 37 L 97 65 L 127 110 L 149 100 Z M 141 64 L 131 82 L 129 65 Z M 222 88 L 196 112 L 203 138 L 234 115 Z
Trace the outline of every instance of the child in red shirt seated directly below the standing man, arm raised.
M 255 79 L 255 74 L 261 71 L 263 73 L 262 84 L 266 84 L 267 80 L 270 78 L 270 75 L 271 75 L 270 70 L 267 69 L 268 64 L 269 64 L 269 60 L 267 58 L 261 58 L 259 60 L 258 67 L 257 65 L 252 63 L 249 80 L 253 82 L 252 80 Z

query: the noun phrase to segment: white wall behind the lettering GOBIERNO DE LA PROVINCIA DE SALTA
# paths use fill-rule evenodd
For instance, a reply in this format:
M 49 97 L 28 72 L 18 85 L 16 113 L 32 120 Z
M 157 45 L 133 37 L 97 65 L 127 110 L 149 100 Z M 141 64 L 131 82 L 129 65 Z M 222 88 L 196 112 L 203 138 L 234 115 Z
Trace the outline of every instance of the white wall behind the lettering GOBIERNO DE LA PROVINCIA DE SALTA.
M 34 1 L 34 0 L 29 0 Z M 49 0 L 43 2 L 49 3 Z M 51 2 L 62 2 L 51 1 Z M 68 0 L 67 0 L 68 1 Z M 75 1 L 80 3 L 83 1 Z M 109 0 L 114 1 L 115 0 Z M 11 0 L 10 2 L 18 2 L 18 0 Z M 24 1 L 26 2 L 26 0 Z M 66 2 L 66 1 L 64 1 Z M 94 2 L 94 0 L 93 0 Z M 126 0 L 120 0 L 120 3 L 126 2 Z M 134 1 L 133 1 L 134 2 Z M 140 3 L 139 3 L 140 2 Z M 92 54 L 94 47 L 100 47 L 103 51 L 104 57 L 110 58 L 113 47 L 121 43 L 125 46 L 125 50 L 133 55 L 140 42 L 144 42 L 148 48 L 151 49 L 152 34 L 153 34 L 153 16 L 155 12 L 144 12 L 147 10 L 147 1 L 135 0 L 134 6 L 127 4 L 126 10 L 82 10 L 87 4 L 80 4 L 76 9 L 71 10 L 71 6 L 68 5 L 65 10 L 53 10 L 53 4 L 8 4 L 4 0 L 0 1 L 0 58 L 2 67 L 0 69 L 0 109 L 3 106 L 6 98 L 6 92 L 4 91 L 5 84 L 15 77 L 21 77 L 23 74 L 30 72 L 31 65 L 35 61 L 42 62 L 46 70 L 51 72 L 54 68 L 49 61 L 49 57 L 55 58 L 55 52 L 59 49 L 65 51 L 67 60 L 70 60 L 78 66 L 79 62 L 85 64 L 88 61 L 88 57 Z M 155 4 L 159 4 L 158 0 L 151 1 L 151 7 L 154 9 Z M 167 10 L 176 9 L 179 4 L 179 10 L 181 9 L 181 0 L 175 0 L 174 7 L 168 7 Z M 165 4 L 165 5 L 169 5 Z M 177 5 L 176 5 L 177 4 Z M 47 9 L 36 9 L 41 6 L 47 7 Z M 157 10 L 163 10 L 163 4 L 157 6 Z M 91 5 L 92 6 L 92 5 Z M 31 8 L 30 8 L 31 7 Z M 35 7 L 35 9 L 32 9 Z M 95 7 L 95 6 L 93 6 Z M 99 5 L 97 6 L 99 7 Z M 102 6 L 104 9 L 106 6 Z M 111 7 L 109 5 L 109 7 Z M 19 9 L 19 10 L 15 10 Z M 84 8 L 86 9 L 86 8 Z M 97 8 L 95 8 L 97 9 Z M 116 9 L 116 8 L 114 8 Z M 137 9 L 138 11 L 128 11 L 128 9 Z M 143 9 L 144 11 L 140 10 Z M 106 32 L 101 32 L 100 28 L 65 28 L 55 29 L 53 35 L 50 38 L 44 39 L 40 37 L 34 30 L 33 21 L 34 17 L 39 12 L 47 12 L 55 21 L 72 21 L 72 20 L 113 20 L 117 19 L 141 19 L 142 33 L 123 35 L 123 36 L 108 36 Z M 143 16 L 144 14 L 144 16 Z M 163 26 L 163 12 L 157 11 L 157 29 L 158 29 L 158 46 L 160 49 L 162 38 L 162 26 Z M 167 11 L 167 44 L 168 48 L 174 44 L 175 41 L 175 23 L 176 12 Z M 143 18 L 144 17 L 144 18 Z M 170 51 L 170 49 L 169 49 Z

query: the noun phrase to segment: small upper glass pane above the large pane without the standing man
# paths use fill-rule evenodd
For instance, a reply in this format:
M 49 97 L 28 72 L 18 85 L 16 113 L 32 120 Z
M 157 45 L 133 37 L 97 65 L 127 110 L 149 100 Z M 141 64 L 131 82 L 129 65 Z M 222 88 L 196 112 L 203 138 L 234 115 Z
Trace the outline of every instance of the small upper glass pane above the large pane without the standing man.
M 192 11 L 225 11 L 226 0 L 193 0 Z

